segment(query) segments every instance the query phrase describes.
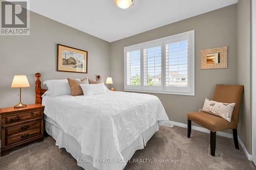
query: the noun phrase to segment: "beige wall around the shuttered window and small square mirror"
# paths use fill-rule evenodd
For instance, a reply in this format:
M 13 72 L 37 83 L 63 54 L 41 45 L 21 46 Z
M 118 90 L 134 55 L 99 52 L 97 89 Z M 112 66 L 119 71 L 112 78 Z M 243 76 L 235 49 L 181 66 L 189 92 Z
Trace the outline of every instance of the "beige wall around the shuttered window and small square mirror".
M 195 96 L 156 94 L 170 120 L 187 123 L 186 114 L 212 98 L 216 84 L 237 84 L 237 6 L 231 5 L 111 43 L 111 76 L 117 90 L 124 89 L 123 47 L 195 30 Z M 228 68 L 200 69 L 200 50 L 228 46 Z

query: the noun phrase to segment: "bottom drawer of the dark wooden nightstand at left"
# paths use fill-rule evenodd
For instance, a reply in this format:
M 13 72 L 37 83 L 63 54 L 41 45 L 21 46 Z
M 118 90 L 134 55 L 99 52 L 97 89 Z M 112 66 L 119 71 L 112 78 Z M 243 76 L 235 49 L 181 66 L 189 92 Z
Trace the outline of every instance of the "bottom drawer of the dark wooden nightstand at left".
M 40 128 L 35 128 L 28 131 L 16 133 L 6 137 L 6 144 L 12 144 L 38 135 L 40 135 Z

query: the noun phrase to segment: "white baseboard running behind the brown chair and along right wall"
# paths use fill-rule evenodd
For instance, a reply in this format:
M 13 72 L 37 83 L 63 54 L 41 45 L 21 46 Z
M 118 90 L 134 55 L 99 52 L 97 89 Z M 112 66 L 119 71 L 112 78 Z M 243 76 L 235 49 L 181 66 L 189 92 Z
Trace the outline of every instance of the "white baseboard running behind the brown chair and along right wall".
M 167 127 L 171 127 L 172 126 L 179 126 L 179 127 L 182 127 L 182 128 L 187 128 L 187 124 L 182 124 L 182 123 L 179 123 L 179 122 L 173 122 L 173 121 L 165 121 L 163 123 L 164 126 L 167 126 Z M 198 127 L 198 126 L 191 126 L 191 129 L 193 130 L 196 130 L 196 131 L 200 131 L 200 132 L 205 132 L 205 133 L 210 133 L 210 131 L 208 129 L 205 129 L 205 128 L 202 128 L 202 127 Z M 228 138 L 233 138 L 233 135 L 230 134 L 230 133 L 225 133 L 225 132 L 217 132 L 216 133 L 217 135 L 219 136 L 223 136 L 223 137 L 228 137 Z M 242 142 L 242 140 L 240 139 L 240 137 L 238 136 L 238 142 L 239 144 L 241 145 L 242 147 L 242 150 L 244 151 L 246 157 L 248 160 L 252 161 L 252 155 L 250 155 L 245 146 L 244 146 L 244 143 Z

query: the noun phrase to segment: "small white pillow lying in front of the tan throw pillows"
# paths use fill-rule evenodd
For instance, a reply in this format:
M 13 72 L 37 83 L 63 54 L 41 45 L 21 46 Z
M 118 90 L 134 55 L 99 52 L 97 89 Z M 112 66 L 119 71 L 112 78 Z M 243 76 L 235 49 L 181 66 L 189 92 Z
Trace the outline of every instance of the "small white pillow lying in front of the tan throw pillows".
M 80 84 L 83 95 L 94 95 L 106 93 L 104 83 L 98 84 Z

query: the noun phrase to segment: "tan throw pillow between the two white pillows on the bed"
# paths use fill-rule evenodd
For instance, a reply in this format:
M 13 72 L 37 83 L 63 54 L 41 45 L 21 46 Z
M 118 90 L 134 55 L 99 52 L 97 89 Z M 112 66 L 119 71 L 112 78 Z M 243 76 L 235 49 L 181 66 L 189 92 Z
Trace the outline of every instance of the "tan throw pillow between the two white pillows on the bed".
M 69 85 L 70 85 L 71 95 L 73 95 L 73 96 L 83 95 L 82 88 L 80 87 L 80 84 L 89 84 L 88 78 L 84 78 L 81 81 L 68 78 L 68 81 L 69 81 Z

